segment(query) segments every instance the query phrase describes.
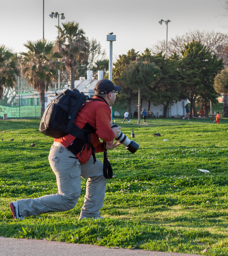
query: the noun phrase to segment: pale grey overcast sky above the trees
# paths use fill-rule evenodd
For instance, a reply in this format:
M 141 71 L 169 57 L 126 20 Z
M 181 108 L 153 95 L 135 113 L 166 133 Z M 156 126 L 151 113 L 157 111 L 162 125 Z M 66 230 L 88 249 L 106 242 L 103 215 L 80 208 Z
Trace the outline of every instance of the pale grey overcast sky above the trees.
M 168 40 L 189 31 L 228 33 L 228 10 L 225 0 L 0 0 L 0 45 L 14 52 L 26 51 L 24 43 L 44 38 L 54 41 L 58 35 L 58 18 L 51 12 L 64 13 L 61 22 L 75 21 L 89 40 L 96 38 L 109 56 L 107 34 L 113 32 L 113 61 L 134 48 L 140 53 L 158 40 Z M 227 4 L 228 6 L 228 4 Z M 223 14 L 227 14 L 223 15 Z

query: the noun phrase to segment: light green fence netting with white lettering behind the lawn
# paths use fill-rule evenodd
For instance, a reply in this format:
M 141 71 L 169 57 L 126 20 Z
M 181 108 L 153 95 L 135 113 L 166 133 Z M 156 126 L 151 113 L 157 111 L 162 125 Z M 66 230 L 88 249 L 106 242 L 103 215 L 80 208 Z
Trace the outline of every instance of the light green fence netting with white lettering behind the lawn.
M 39 117 L 40 105 L 21 106 L 21 107 L 6 107 L 0 105 L 0 117 L 7 114 L 7 118 L 12 117 Z

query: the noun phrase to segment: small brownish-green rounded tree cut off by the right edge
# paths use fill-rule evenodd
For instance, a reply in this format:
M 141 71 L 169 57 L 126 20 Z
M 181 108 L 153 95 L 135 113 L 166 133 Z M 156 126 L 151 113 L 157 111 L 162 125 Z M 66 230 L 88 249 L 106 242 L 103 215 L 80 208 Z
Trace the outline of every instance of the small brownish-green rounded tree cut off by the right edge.
M 223 95 L 223 115 L 228 117 L 228 68 L 217 74 L 213 86 L 217 93 Z

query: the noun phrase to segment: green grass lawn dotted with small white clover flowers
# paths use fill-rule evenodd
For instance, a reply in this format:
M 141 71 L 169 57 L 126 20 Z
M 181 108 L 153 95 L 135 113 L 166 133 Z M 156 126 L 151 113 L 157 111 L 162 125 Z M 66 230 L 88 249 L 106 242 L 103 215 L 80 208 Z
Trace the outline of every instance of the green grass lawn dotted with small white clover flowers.
M 53 139 L 36 132 L 40 120 L 0 120 L 0 236 L 228 255 L 228 119 L 218 125 L 210 118 L 121 121 L 115 119 L 129 138 L 134 130 L 140 147 L 135 154 L 123 145 L 108 151 L 114 177 L 100 210 L 105 219 L 78 220 L 82 179 L 72 210 L 14 221 L 11 201 L 57 192 L 48 163 Z M 96 156 L 103 159 L 103 153 Z

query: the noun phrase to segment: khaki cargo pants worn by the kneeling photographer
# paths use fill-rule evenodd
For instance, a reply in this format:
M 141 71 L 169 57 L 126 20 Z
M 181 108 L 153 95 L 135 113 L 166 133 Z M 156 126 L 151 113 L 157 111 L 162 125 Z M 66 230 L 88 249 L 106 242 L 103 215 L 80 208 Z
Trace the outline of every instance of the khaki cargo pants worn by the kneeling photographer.
M 81 177 L 88 178 L 84 205 L 80 216 L 98 217 L 103 206 L 107 179 L 103 175 L 103 163 L 91 157 L 81 164 L 67 148 L 51 146 L 48 156 L 50 166 L 55 173 L 58 193 L 40 198 L 18 200 L 23 217 L 47 212 L 67 211 L 77 204 L 81 194 Z

